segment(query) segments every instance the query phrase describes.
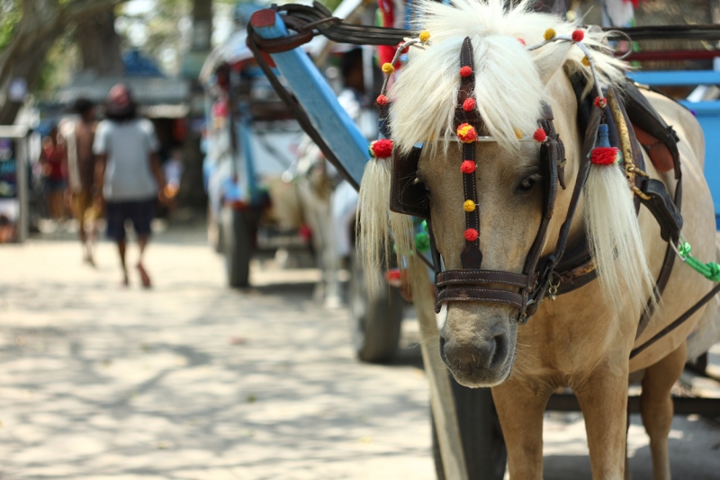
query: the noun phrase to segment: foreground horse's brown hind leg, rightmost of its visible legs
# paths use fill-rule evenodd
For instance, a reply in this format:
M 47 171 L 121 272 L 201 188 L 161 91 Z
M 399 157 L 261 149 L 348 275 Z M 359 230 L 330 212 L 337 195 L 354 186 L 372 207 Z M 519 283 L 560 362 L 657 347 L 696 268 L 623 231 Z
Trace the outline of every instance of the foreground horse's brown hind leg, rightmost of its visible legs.
M 686 351 L 687 343 L 682 342 L 670 355 L 645 369 L 643 377 L 640 413 L 643 414 L 645 431 L 650 437 L 654 480 L 671 479 L 668 456 L 668 433 L 672 422 L 670 390 L 685 367 Z

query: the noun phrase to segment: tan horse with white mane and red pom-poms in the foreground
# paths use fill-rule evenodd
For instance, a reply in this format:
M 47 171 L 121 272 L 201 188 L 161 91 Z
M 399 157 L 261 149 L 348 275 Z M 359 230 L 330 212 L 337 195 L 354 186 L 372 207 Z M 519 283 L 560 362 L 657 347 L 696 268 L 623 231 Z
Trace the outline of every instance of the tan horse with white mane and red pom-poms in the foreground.
M 586 94 L 598 95 L 596 107 L 602 108 L 607 99 L 597 89 L 592 91 L 593 85 L 610 87 L 616 92 L 615 101 L 623 102 L 628 88 L 626 65 L 612 56 L 602 32 L 575 33 L 579 31 L 576 25 L 534 13 L 530 6 L 528 0 L 509 4 L 454 0 L 452 5 L 420 1 L 416 27 L 427 31 L 429 40 L 410 48 L 401 75 L 383 102 L 378 101 L 389 103 L 392 166 L 378 158 L 365 170 L 359 229 L 380 239 L 363 240 L 364 261 L 380 262 L 383 249 L 387 249 L 383 242 L 391 238 L 392 230 L 401 256 L 399 264 L 408 268 L 410 278 L 418 274 L 417 269 L 427 268 L 412 253 L 415 245 L 407 232 L 407 216 L 390 211 L 388 180 L 389 169 L 393 175 L 401 172 L 402 162 L 422 144 L 417 168 L 412 167 L 405 185 L 423 190 L 417 204 L 410 207 L 427 209 L 437 251 L 437 276 L 446 274 L 443 282 L 437 282 L 438 304 L 446 316 L 439 338 L 441 358 L 465 387 L 491 387 L 507 445 L 510 477 L 542 478 L 543 413 L 548 398 L 560 387 L 572 388 L 581 404 L 593 478 L 629 477 L 627 387 L 634 374 L 642 377 L 640 406 L 650 437 L 653 476 L 655 480 L 669 479 L 671 386 L 687 360 L 690 333 L 698 329 L 708 333 L 691 338 L 690 342 L 695 342 L 691 350 L 696 354 L 717 341 L 718 299 L 713 298 L 671 334 L 630 360 L 634 348 L 686 312 L 712 284 L 687 265 L 675 262 L 664 295 L 654 300 L 656 279 L 669 248 L 658 222 L 645 207 L 636 215 L 634 193 L 621 167 L 603 171 L 604 166 L 592 164 L 587 184 L 579 183 L 588 142 L 586 132 L 578 127 L 580 103 L 571 77 L 584 78 L 590 91 Z M 569 41 L 552 41 L 554 36 Z M 579 43 L 585 49 L 577 48 Z M 534 45 L 539 47 L 528 48 Z M 474 77 L 470 90 L 465 88 L 463 72 L 468 54 L 474 59 L 472 69 L 467 70 Z M 392 70 L 392 66 L 383 67 L 385 73 Z M 456 122 L 458 99 L 463 95 L 467 97 L 463 108 L 472 107 L 468 110 L 477 115 L 483 130 L 467 143 L 460 137 L 467 124 L 459 128 Z M 644 96 L 680 138 L 685 192 L 682 234 L 698 259 L 716 261 L 715 213 L 703 177 L 702 130 L 691 112 L 678 103 L 649 91 L 644 91 Z M 550 120 L 544 104 L 552 109 Z M 540 140 L 545 141 L 545 133 L 554 132 L 545 129 L 538 134 L 538 141 L 527 141 L 542 121 L 551 122 L 562 138 L 563 171 L 560 163 L 557 170 L 541 163 L 543 152 L 547 155 L 551 146 Z M 591 134 L 591 146 L 596 145 L 595 134 Z M 477 160 L 466 170 L 468 156 Z M 662 182 L 672 197 L 677 188 L 672 172 L 660 172 L 647 153 L 643 156 L 645 173 Z M 383 162 L 388 166 L 378 166 Z M 548 181 L 547 176 L 555 174 L 562 177 L 559 187 Z M 618 174 L 621 181 L 608 181 Z M 594 180 L 593 175 L 597 177 Z M 470 193 L 468 182 L 475 185 Z M 576 184 L 581 194 L 573 200 Z M 550 188 L 557 191 L 550 192 Z M 554 215 L 549 218 L 545 200 L 551 194 Z M 575 215 L 566 216 L 573 201 Z M 566 218 L 569 223 L 563 228 Z M 471 220 L 476 221 L 472 228 L 468 227 Z M 542 228 L 545 235 L 540 236 Z M 545 300 L 540 295 L 531 308 L 533 301 L 521 297 L 524 289 L 536 289 L 537 282 L 526 283 L 532 272 L 524 266 L 528 262 L 547 264 L 543 262 L 558 252 L 563 231 L 568 250 L 587 240 L 590 268 L 598 279 L 562 295 L 548 294 Z M 539 263 L 527 258 L 538 238 Z M 475 284 L 464 290 L 455 289 L 455 294 L 439 296 L 447 283 L 472 280 L 463 269 L 467 265 L 478 269 L 481 262 L 482 279 L 474 279 Z M 549 278 L 551 290 L 554 287 L 556 291 L 558 280 L 552 272 Z M 527 315 L 526 308 L 534 315 Z M 635 338 L 644 314 L 652 318 Z

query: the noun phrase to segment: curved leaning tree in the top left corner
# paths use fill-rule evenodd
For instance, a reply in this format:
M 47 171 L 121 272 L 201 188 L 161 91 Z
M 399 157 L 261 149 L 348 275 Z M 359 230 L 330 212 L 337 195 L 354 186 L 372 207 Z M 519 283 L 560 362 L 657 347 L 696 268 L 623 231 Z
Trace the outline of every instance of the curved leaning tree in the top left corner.
M 33 90 L 56 40 L 66 29 L 112 13 L 123 0 L 4 0 L 0 11 L 0 125 L 12 124 L 22 102 L 9 98 L 15 79 Z M 3 41 L 5 43 L 3 43 Z

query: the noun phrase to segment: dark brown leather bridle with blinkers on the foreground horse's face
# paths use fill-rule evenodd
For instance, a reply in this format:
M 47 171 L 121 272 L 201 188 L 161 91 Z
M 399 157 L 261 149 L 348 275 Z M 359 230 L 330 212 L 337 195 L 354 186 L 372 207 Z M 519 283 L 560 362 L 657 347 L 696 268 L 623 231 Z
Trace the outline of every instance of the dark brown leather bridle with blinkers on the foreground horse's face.
M 469 38 L 465 38 L 461 50 L 461 68 L 469 67 L 473 71 L 473 47 Z M 474 91 L 474 71 L 471 75 L 462 76 L 455 109 L 455 126 L 471 125 L 476 131 L 482 129 L 482 118 L 477 109 L 465 111 L 463 106 Z M 542 118 L 538 120 L 545 139 L 540 146 L 540 166 L 544 179 L 543 217 L 538 228 L 535 241 L 527 253 L 527 259 L 521 273 L 512 271 L 494 271 L 482 269 L 482 252 L 480 250 L 480 217 L 478 209 L 465 212 L 465 223 L 468 229 L 474 229 L 478 236 L 465 237 L 465 246 L 460 255 L 462 269 L 443 270 L 441 255 L 437 250 L 432 228 L 432 218 L 427 200 L 425 186 L 417 179 L 417 170 L 421 154 L 420 148 L 413 148 L 409 155 L 395 154 L 393 157 L 391 202 L 392 211 L 414 215 L 428 220 L 430 236 L 430 253 L 436 274 L 436 311 L 449 301 L 471 301 L 500 303 L 518 308 L 518 324 L 525 324 L 533 316 L 545 292 L 550 287 L 554 269 L 563 257 L 567 245 L 572 218 L 581 197 L 582 187 L 590 171 L 588 153 L 595 146 L 597 132 L 603 110 L 593 109 L 590 115 L 587 135 L 580 159 L 580 169 L 572 192 L 572 199 L 560 229 L 557 246 L 553 253 L 545 258 L 540 257 L 547 227 L 554 216 L 555 200 L 558 185 L 565 188 L 564 165 L 565 150 L 560 136 L 554 129 L 553 111 L 544 103 Z M 488 139 L 488 138 L 485 138 Z M 463 143 L 463 161 L 475 163 L 475 142 Z M 460 164 L 458 164 L 460 167 Z M 462 173 L 465 199 L 477 204 L 477 186 L 475 173 Z M 492 286 L 489 286 L 492 285 Z

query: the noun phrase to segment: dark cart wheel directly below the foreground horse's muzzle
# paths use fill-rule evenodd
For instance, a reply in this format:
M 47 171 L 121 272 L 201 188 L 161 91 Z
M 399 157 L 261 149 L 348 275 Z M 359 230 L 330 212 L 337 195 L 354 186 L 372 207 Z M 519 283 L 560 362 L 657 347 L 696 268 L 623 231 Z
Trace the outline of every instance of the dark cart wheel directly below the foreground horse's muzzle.
M 463 440 L 467 477 L 470 480 L 502 480 L 508 453 L 502 438 L 500 420 L 492 403 L 490 388 L 463 387 L 450 378 L 455 396 L 460 435 Z M 433 457 L 438 480 L 446 480 L 440 445 L 437 441 L 435 419 L 433 428 Z

